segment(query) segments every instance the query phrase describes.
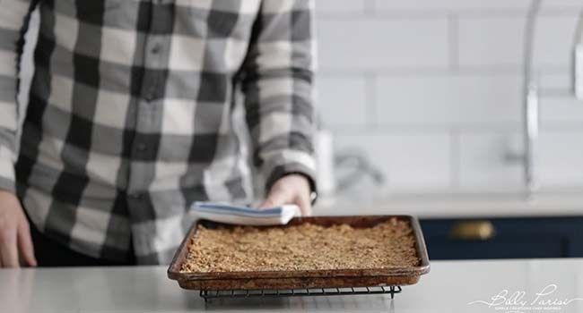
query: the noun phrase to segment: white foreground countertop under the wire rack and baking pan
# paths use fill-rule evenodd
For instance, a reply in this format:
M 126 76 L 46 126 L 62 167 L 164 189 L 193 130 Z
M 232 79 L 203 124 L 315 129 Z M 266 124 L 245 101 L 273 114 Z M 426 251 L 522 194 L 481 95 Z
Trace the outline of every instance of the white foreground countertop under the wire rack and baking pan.
M 0 269 L 0 312 L 583 312 L 583 300 L 565 306 L 533 305 L 536 293 L 553 284 L 556 291 L 540 300 L 583 298 L 583 259 L 436 261 L 431 263 L 430 274 L 405 286 L 395 300 L 388 295 L 361 295 L 211 300 L 207 304 L 198 292 L 183 291 L 170 281 L 166 266 Z M 468 304 L 491 301 L 503 290 L 525 292 L 523 307 L 528 309 Z M 533 309 L 547 307 L 551 310 Z

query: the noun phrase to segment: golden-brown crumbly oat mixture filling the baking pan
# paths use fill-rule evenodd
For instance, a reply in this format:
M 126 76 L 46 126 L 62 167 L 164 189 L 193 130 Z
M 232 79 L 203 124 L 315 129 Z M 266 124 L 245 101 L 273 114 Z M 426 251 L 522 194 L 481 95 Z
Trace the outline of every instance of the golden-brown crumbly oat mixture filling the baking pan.
M 207 229 L 198 225 L 181 272 L 289 271 L 417 266 L 411 226 L 396 218 L 371 228 Z

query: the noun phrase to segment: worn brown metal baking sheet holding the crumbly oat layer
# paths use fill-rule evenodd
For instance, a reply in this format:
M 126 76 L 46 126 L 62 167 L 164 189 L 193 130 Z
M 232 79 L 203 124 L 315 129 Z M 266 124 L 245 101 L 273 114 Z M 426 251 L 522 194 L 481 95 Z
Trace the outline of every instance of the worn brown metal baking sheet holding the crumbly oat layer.
M 421 275 L 430 270 L 427 248 L 419 221 L 413 216 L 309 216 L 296 217 L 287 227 L 297 224 L 350 224 L 355 228 L 372 227 L 391 218 L 409 222 L 413 228 L 418 266 L 367 268 L 367 269 L 331 269 L 307 271 L 261 271 L 261 272 L 212 272 L 180 273 L 180 266 L 187 258 L 189 239 L 196 233 L 198 224 L 213 228 L 217 226 L 233 227 L 210 221 L 197 221 L 190 228 L 184 241 L 180 244 L 168 269 L 170 279 L 178 281 L 180 287 L 194 290 L 265 290 L 265 289 L 307 289 L 307 288 L 345 288 L 407 285 L 417 283 Z M 273 226 L 270 226 L 273 227 Z

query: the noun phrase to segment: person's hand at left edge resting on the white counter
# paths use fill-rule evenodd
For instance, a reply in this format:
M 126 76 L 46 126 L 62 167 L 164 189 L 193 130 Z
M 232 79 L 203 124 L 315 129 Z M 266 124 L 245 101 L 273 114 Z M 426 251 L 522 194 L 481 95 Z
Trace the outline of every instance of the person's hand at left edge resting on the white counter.
M 19 250 L 29 266 L 37 266 L 30 225 L 18 198 L 0 190 L 0 267 L 20 267 Z

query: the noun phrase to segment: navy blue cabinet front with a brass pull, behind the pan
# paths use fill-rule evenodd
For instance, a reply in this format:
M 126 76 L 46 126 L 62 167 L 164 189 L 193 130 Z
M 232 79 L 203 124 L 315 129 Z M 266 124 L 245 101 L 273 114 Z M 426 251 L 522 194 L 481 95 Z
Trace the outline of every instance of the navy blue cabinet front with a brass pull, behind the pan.
M 487 224 L 486 234 L 471 229 L 468 235 L 465 229 L 460 235 L 460 225 L 468 222 Z M 422 219 L 421 224 L 431 259 L 583 257 L 583 216 Z

